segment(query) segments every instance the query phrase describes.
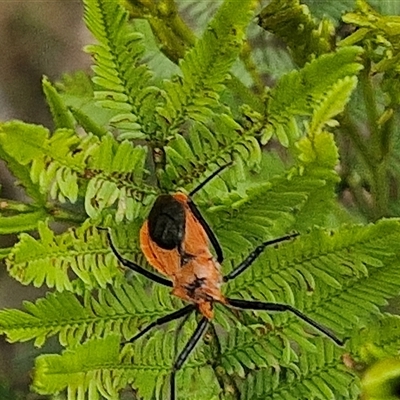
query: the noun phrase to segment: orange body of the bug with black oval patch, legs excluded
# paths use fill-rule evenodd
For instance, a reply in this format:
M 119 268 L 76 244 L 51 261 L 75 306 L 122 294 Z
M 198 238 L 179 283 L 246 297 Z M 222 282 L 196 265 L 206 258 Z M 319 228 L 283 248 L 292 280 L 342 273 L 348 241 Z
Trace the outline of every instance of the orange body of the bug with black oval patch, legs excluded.
M 172 294 L 196 304 L 211 319 L 212 303 L 225 303 L 223 280 L 208 247 L 205 222 L 195 217 L 194 207 L 183 193 L 160 196 L 142 226 L 140 244 L 148 262 L 172 279 Z

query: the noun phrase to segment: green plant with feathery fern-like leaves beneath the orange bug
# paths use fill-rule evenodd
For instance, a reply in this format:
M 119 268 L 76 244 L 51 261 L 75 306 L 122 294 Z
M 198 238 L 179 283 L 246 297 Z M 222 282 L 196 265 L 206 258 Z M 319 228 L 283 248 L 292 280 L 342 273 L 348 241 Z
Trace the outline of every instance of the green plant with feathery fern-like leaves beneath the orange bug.
M 53 132 L 20 121 L 0 126 L 0 156 L 32 200 L 1 200 L 0 234 L 23 233 L 0 255 L 22 284 L 52 289 L 22 310 L 1 310 L 0 332 L 37 346 L 58 336 L 65 348 L 37 358 L 33 389 L 117 399 L 131 385 L 138 399 L 167 398 L 176 325 L 132 345 L 121 342 L 180 301 L 164 287 L 125 276 L 97 227 L 111 227 L 120 251 L 145 265 L 138 232 L 155 197 L 190 191 L 233 160 L 196 195 L 224 248 L 224 271 L 263 240 L 293 230 L 301 235 L 268 249 L 226 285 L 226 294 L 292 304 L 347 339 L 346 349 L 290 315 L 235 316 L 217 307 L 218 332 L 208 332 L 178 374 L 180 398 L 357 398 L 359 378 L 342 356 L 361 357 L 360 328 L 373 315 L 386 318 L 379 307 L 400 292 L 400 220 L 358 225 L 369 214 L 362 207 L 349 213 L 335 194 L 333 133 L 365 74 L 368 52 L 346 43 L 334 48 L 332 22 L 316 23 L 296 1 L 273 1 L 260 14 L 265 29 L 283 39 L 290 36 L 283 21 L 300 20 L 305 29 L 287 43 L 301 68 L 265 91 L 244 42 L 254 1 L 225 0 L 197 40 L 172 0 L 126 3 L 149 24 L 129 21 L 117 2 L 84 3 L 98 42 L 86 49 L 92 81 L 81 73 L 57 85 L 43 79 Z M 150 26 L 164 53 L 154 49 Z M 168 79 L 152 72 L 156 64 Z M 239 79 L 244 71 L 258 92 Z M 391 105 L 398 108 L 394 96 Z M 281 153 L 264 151 L 271 143 Z M 385 214 L 381 206 L 372 210 L 373 219 Z M 56 234 L 55 221 L 69 229 Z M 188 320 L 179 343 L 194 324 Z

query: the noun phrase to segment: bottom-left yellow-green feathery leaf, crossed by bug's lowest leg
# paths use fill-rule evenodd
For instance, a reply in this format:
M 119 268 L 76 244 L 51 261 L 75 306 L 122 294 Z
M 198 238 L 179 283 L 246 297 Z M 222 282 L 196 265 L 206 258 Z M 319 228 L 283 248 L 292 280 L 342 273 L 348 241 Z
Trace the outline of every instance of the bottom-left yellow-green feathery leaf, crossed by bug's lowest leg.
M 166 378 L 172 363 L 173 341 L 172 334 L 157 332 L 145 348 L 140 344 L 128 345 L 119 354 L 118 336 L 90 339 L 61 355 L 38 357 L 34 387 L 42 394 L 68 389 L 70 400 L 93 400 L 100 396 L 116 400 L 119 391 L 130 384 L 141 398 L 162 400 L 169 392 Z M 157 346 L 160 342 L 163 343 L 161 351 Z M 211 368 L 199 368 L 205 364 L 204 355 L 195 351 L 178 374 L 178 388 L 183 396 L 201 400 L 215 398 L 219 393 Z

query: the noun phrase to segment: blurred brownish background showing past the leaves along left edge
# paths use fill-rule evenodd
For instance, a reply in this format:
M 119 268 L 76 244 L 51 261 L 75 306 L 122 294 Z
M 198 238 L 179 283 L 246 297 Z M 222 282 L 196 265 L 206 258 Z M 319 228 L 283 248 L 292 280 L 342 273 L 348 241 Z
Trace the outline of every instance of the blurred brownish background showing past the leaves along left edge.
M 21 119 L 52 128 L 42 94 L 41 80 L 52 81 L 65 72 L 89 71 L 90 57 L 82 47 L 90 34 L 82 20 L 80 1 L 0 2 L 0 120 Z M 1 197 L 23 199 L 23 192 L 0 160 Z M 0 247 L 11 246 L 13 237 L 0 237 Z M 23 300 L 41 294 L 8 277 L 0 261 L 0 308 L 20 307 Z M 0 399 L 39 399 L 28 394 L 30 371 L 37 351 L 31 343 L 11 345 L 0 337 Z

